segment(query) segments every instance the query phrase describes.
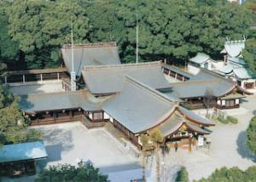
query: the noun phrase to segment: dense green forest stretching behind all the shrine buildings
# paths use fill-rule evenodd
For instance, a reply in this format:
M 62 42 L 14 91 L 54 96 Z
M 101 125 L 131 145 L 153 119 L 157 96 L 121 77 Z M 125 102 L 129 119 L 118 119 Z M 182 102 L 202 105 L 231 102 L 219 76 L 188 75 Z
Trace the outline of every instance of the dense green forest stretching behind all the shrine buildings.
M 61 66 L 71 43 L 117 42 L 123 63 L 166 59 L 184 65 L 197 52 L 222 59 L 224 42 L 247 38 L 244 57 L 256 67 L 256 4 L 224 0 L 15 0 L 0 2 L 0 70 Z

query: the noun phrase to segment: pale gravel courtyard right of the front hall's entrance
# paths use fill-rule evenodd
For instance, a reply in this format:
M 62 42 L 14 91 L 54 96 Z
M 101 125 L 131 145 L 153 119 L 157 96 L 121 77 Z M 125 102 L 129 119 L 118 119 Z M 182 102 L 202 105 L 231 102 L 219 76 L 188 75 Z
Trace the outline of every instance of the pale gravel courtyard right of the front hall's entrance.
M 194 148 L 190 153 L 178 150 L 177 152 L 171 151 L 165 156 L 163 161 L 166 163 L 166 181 L 175 179 L 180 166 L 187 168 L 189 179 L 193 180 L 207 177 L 216 168 L 224 166 L 228 168 L 238 166 L 246 169 L 256 165 L 256 156 L 251 155 L 245 145 L 247 126 L 253 115 L 256 116 L 256 96 L 247 97 L 241 106 L 246 111 L 241 109 L 241 114 L 234 114 L 239 119 L 239 123 L 227 125 L 218 123 L 212 128 L 213 133 L 209 136 L 212 145 L 209 151 Z M 230 111 L 229 114 L 232 112 Z

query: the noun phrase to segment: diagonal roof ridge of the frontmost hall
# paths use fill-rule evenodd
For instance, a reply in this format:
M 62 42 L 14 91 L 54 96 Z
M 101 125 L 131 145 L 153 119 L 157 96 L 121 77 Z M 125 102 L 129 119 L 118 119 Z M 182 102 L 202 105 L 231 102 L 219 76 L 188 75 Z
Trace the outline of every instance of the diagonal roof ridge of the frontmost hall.
M 125 75 L 125 79 L 126 79 L 126 81 L 131 82 L 132 84 L 139 86 L 140 88 L 143 88 L 148 93 L 154 94 L 154 96 L 158 97 L 160 100 L 164 100 L 164 101 L 166 101 L 168 103 L 172 103 L 172 104 L 176 103 L 175 100 L 171 100 L 165 94 L 161 94 L 159 91 L 155 90 L 154 88 L 149 87 L 148 85 L 144 84 L 143 82 L 139 82 L 139 81 L 135 80 L 134 78 L 127 76 L 127 75 Z

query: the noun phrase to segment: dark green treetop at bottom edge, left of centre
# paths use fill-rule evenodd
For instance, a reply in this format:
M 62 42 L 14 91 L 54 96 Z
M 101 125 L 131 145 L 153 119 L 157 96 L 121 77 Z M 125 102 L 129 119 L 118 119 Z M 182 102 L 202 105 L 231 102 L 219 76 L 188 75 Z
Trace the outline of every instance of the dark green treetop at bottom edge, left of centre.
M 50 166 L 49 169 L 44 169 L 35 181 L 104 182 L 108 181 L 108 176 L 100 173 L 99 169 L 94 168 L 90 163 L 82 164 L 79 167 L 70 164 L 59 164 L 58 166 Z

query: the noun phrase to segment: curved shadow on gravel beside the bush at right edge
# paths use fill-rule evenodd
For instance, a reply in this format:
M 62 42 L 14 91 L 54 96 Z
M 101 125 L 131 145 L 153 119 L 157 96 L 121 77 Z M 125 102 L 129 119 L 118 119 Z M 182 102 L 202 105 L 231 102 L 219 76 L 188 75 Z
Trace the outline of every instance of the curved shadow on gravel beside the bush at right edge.
M 249 160 L 252 160 L 253 162 L 256 162 L 256 155 L 251 154 L 246 145 L 246 131 L 242 131 L 239 135 L 238 138 L 236 139 L 236 145 L 237 149 L 236 151 L 239 153 L 239 155 L 242 158 L 247 158 Z

